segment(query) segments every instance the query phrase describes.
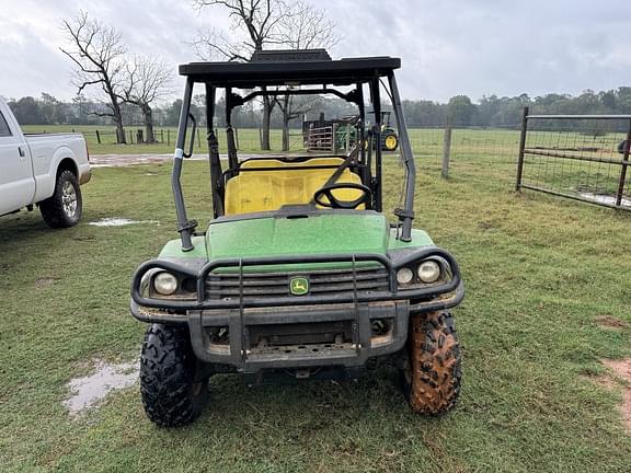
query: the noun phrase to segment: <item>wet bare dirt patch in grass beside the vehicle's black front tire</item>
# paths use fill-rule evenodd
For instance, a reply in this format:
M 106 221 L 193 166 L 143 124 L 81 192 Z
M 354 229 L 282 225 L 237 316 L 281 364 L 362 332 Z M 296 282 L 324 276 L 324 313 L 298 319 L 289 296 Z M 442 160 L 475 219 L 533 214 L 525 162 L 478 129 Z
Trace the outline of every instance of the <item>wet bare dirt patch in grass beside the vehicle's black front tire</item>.
M 94 362 L 94 371 L 68 382 L 70 396 L 64 401 L 71 416 L 96 406 L 114 390 L 129 388 L 138 380 L 138 362 L 108 364 Z

